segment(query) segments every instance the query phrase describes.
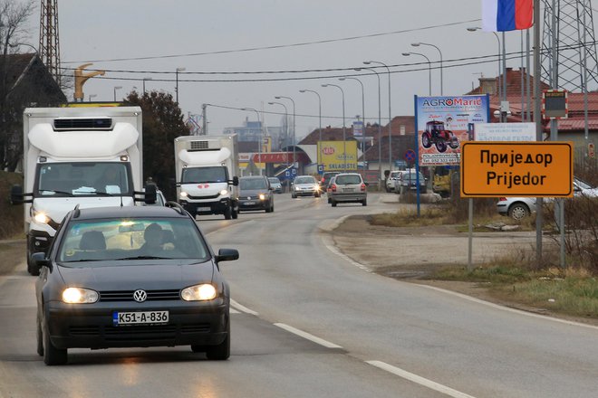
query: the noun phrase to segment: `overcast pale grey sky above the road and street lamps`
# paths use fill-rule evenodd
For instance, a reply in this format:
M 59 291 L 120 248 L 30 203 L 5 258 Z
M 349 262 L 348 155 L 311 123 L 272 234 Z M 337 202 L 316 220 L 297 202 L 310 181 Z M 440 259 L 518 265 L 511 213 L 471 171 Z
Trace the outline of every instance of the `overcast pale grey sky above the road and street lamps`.
M 241 126 L 245 118 L 256 119 L 255 112 L 236 110 L 241 108 L 272 112 L 265 113 L 265 123 L 279 125 L 285 109 L 268 102 L 283 102 L 292 114 L 291 100 L 275 100 L 285 96 L 294 100 L 301 115 L 296 118 L 296 135 L 304 137 L 319 121 L 317 96 L 300 93 L 302 89 L 320 94 L 323 126 L 342 127 L 342 92 L 323 88 L 323 83 L 344 90 L 350 126 L 355 115 L 362 114 L 362 88 L 359 81 L 339 81 L 343 75 L 362 81 L 365 116 L 377 121 L 378 80 L 371 71 L 353 71 L 367 60 L 391 67 L 392 116 L 413 115 L 414 94 L 429 93 L 429 64 L 422 55 L 406 57 L 402 52 L 429 58 L 435 68 L 432 95 L 440 94 L 440 52 L 445 95 L 464 94 L 477 86 L 480 74 L 494 77 L 498 69 L 496 58 L 491 58 L 498 52 L 495 35 L 467 31 L 481 24 L 480 0 L 60 0 L 58 8 L 63 67 L 93 62 L 90 68 L 107 71 L 106 79 L 85 83 L 85 100 L 89 95 L 113 100 L 114 87 L 122 86 L 117 90 L 120 100 L 134 86 L 142 90 L 143 78 L 152 79 L 145 82 L 146 90 L 168 91 L 174 97 L 174 72 L 185 68 L 178 74 L 181 109 L 187 115 L 201 113 L 203 103 L 217 105 L 207 107 L 210 134 Z M 38 24 L 36 10 L 30 29 L 35 47 Z M 507 33 L 506 51 L 520 51 L 520 41 L 519 32 Z M 429 45 L 412 47 L 415 42 L 433 44 L 440 52 Z M 484 56 L 488 57 L 476 59 Z M 520 64 L 516 59 L 507 67 Z M 257 71 L 279 73 L 198 73 Z M 376 71 L 386 124 L 389 75 L 383 67 Z M 72 92 L 69 95 L 72 100 Z

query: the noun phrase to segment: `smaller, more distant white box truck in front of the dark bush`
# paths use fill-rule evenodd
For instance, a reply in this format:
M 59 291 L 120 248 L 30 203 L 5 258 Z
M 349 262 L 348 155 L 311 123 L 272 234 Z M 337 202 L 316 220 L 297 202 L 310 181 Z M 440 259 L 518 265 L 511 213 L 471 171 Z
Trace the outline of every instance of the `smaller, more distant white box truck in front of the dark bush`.
M 178 203 L 192 216 L 238 215 L 238 149 L 236 135 L 175 138 Z

